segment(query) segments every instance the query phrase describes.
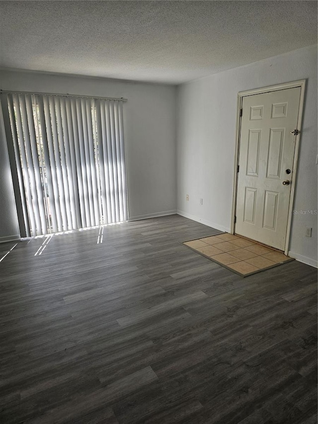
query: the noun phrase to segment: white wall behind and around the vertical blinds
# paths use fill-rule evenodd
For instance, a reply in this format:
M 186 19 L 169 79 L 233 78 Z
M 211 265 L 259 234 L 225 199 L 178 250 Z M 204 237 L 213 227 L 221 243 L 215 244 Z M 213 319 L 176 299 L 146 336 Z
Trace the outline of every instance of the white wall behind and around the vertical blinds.
M 175 212 L 175 86 L 0 70 L 0 88 L 128 98 L 124 119 L 129 218 Z M 3 137 L 0 149 L 0 166 L 4 162 L 7 174 Z M 12 193 L 8 194 L 6 181 L 1 175 L 0 237 L 16 231 L 16 220 L 12 226 L 9 212 Z

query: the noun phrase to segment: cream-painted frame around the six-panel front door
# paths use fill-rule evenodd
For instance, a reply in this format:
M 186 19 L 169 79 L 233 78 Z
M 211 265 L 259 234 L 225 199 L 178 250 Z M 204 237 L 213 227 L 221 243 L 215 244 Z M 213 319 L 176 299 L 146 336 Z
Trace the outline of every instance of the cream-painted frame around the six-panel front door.
M 254 94 L 267 93 L 270 91 L 284 90 L 287 88 L 301 87 L 299 112 L 298 112 L 298 126 L 297 126 L 297 129 L 300 131 L 300 134 L 296 136 L 296 143 L 295 143 L 295 154 L 294 154 L 293 173 L 292 173 L 293 178 L 291 181 L 291 191 L 290 191 L 290 199 L 289 199 L 288 218 L 287 218 L 287 233 L 286 233 L 286 241 L 285 241 L 285 249 L 284 249 L 285 254 L 288 254 L 288 247 L 289 247 L 290 227 L 291 227 L 291 221 L 292 221 L 292 209 L 293 209 L 294 193 L 295 193 L 295 185 L 296 185 L 298 150 L 299 150 L 300 137 L 302 135 L 301 128 L 302 128 L 302 116 L 303 116 L 303 106 L 304 106 L 304 97 L 305 97 L 305 85 L 306 85 L 306 80 L 299 80 L 299 81 L 293 81 L 290 83 L 284 83 L 279 85 L 270 85 L 268 87 L 263 87 L 263 88 L 255 88 L 253 90 L 239 91 L 238 93 L 231 234 L 234 234 L 234 230 L 235 230 L 235 213 L 236 213 L 237 189 L 238 189 L 239 139 L 240 139 L 240 126 L 241 126 L 240 110 L 242 107 L 243 97 L 254 95 Z

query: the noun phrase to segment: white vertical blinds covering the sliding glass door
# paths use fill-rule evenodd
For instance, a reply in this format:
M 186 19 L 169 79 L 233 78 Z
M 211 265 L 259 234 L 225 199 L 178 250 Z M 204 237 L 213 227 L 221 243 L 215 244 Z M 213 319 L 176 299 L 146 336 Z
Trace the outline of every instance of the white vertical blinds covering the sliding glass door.
M 1 94 L 26 235 L 127 220 L 123 101 Z

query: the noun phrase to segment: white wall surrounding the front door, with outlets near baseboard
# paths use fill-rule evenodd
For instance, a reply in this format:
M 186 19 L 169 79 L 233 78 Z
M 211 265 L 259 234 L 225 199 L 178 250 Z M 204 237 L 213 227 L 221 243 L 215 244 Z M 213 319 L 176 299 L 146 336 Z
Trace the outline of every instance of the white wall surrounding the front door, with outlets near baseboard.
M 307 88 L 293 209 L 318 209 L 317 46 L 310 46 L 178 87 L 178 213 L 230 230 L 237 93 L 301 79 Z M 312 238 L 305 237 L 306 226 Z M 317 266 L 317 215 L 293 216 L 290 255 Z

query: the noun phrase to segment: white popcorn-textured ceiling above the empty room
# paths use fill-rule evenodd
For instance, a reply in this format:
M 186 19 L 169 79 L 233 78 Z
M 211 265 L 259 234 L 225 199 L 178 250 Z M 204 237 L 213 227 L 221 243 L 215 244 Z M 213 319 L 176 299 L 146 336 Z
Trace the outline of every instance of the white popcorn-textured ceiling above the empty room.
M 317 43 L 317 1 L 0 1 L 0 67 L 179 84 Z

